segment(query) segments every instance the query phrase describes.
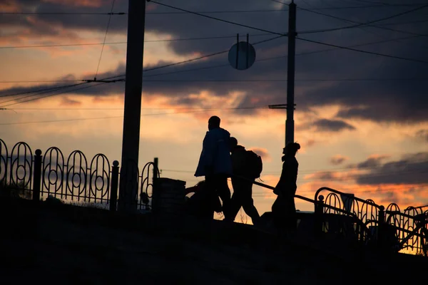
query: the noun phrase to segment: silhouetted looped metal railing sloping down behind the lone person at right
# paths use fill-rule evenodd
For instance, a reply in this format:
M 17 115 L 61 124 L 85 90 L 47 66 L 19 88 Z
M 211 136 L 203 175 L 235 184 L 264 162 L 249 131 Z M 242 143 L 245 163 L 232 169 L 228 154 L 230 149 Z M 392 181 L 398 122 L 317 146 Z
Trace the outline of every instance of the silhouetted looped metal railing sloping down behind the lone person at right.
M 240 179 L 245 180 L 245 177 Z M 253 183 L 275 190 L 275 187 L 270 185 L 256 181 Z M 320 195 L 322 192 L 327 192 L 326 197 Z M 300 195 L 295 195 L 295 198 L 314 205 L 318 232 L 328 231 L 330 227 L 328 222 L 322 219 L 322 214 L 350 217 L 354 224 L 353 231 L 360 242 L 372 242 L 378 247 L 394 247 L 397 250 L 409 248 L 428 256 L 428 205 L 407 207 L 404 212 L 400 212 L 397 204 L 389 204 L 385 209 L 372 199 L 360 199 L 328 187 L 317 190 L 314 199 Z

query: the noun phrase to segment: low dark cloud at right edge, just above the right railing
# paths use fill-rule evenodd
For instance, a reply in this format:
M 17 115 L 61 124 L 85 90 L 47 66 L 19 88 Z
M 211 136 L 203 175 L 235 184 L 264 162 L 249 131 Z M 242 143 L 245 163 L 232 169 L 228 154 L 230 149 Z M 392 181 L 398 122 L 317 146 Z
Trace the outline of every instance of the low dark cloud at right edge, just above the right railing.
M 376 163 L 374 165 L 377 166 Z M 401 160 L 386 162 L 366 174 L 359 175 L 357 183 L 361 185 L 427 184 L 428 152 L 404 155 Z

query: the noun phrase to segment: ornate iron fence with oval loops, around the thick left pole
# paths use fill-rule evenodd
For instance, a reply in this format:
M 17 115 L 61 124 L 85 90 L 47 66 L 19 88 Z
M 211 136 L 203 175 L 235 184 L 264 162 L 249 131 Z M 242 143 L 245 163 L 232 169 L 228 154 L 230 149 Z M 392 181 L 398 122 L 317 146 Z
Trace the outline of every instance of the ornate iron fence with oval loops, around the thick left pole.
M 159 177 L 157 164 L 155 159 L 138 171 L 140 210 L 151 208 L 153 177 Z M 26 142 L 16 143 L 9 152 L 0 139 L 0 185 L 29 192 L 32 199 L 51 195 L 65 202 L 95 203 L 116 210 L 119 177 L 119 162 L 115 160 L 111 165 L 101 153 L 88 160 L 80 150 L 66 157 L 58 147 L 49 147 L 42 154 L 41 150 L 33 152 Z

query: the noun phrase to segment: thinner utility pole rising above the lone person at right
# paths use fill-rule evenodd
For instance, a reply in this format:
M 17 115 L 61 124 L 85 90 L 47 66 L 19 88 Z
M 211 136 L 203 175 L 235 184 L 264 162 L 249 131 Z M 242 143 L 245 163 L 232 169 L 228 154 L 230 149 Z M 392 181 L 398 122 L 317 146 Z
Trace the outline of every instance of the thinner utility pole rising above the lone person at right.
M 285 145 L 294 142 L 296 36 L 296 4 L 294 0 L 292 0 L 288 10 L 287 120 L 285 121 Z

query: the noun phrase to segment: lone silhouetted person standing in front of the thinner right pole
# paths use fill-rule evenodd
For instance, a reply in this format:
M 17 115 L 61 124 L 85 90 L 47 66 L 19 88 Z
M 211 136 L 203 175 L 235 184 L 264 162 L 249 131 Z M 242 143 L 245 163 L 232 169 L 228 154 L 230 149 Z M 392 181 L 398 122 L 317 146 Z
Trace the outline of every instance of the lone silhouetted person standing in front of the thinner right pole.
M 277 199 L 272 204 L 273 222 L 280 234 L 294 233 L 297 227 L 296 207 L 294 196 L 297 190 L 297 171 L 299 163 L 296 160 L 296 152 L 300 150 L 297 142 L 291 142 L 282 153 L 282 172 L 280 181 L 273 191 Z

